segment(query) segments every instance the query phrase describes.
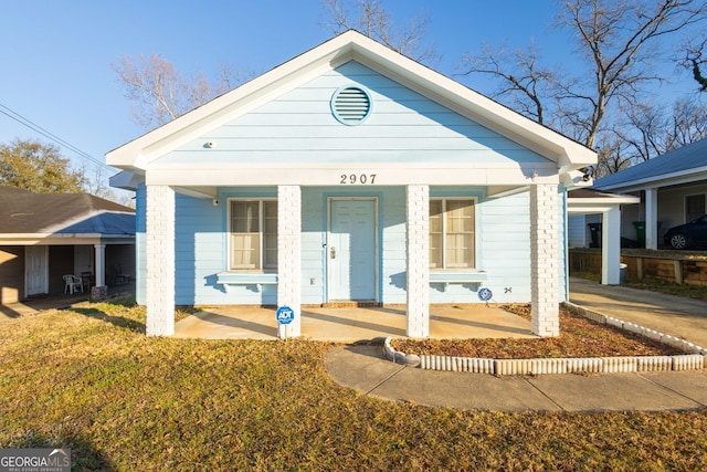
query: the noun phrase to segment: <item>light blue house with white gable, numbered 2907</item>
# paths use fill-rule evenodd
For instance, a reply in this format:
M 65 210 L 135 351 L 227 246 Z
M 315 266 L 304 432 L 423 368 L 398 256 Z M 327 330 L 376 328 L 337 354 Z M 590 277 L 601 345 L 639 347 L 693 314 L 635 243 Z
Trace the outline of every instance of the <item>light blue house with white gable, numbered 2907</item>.
M 137 193 L 149 335 L 175 305 L 360 303 L 404 304 L 425 337 L 431 303 L 492 296 L 553 336 L 567 191 L 597 156 L 348 31 L 107 161 Z

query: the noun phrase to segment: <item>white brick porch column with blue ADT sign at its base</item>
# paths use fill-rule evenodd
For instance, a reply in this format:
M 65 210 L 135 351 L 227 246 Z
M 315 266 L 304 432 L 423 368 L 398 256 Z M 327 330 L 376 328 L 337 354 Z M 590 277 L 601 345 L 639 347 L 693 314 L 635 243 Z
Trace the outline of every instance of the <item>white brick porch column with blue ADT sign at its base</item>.
M 295 318 L 277 325 L 277 337 L 302 333 L 302 192 L 298 186 L 277 187 L 277 306 L 289 306 Z

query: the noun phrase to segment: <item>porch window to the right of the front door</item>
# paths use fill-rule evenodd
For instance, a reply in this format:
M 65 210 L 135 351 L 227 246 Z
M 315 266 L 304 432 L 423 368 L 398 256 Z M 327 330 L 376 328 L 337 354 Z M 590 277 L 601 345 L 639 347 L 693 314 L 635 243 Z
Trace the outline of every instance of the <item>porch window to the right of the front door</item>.
M 475 228 L 474 200 L 430 200 L 430 268 L 475 268 Z

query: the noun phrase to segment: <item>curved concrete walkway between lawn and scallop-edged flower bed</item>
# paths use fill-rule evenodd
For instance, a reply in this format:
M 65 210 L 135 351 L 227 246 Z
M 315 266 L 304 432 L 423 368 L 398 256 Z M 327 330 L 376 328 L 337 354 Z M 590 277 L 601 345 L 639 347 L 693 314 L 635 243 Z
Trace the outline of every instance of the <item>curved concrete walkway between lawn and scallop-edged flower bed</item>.
M 707 373 L 503 376 L 393 364 L 382 347 L 338 346 L 326 369 L 339 385 L 389 400 L 489 411 L 659 411 L 707 408 Z

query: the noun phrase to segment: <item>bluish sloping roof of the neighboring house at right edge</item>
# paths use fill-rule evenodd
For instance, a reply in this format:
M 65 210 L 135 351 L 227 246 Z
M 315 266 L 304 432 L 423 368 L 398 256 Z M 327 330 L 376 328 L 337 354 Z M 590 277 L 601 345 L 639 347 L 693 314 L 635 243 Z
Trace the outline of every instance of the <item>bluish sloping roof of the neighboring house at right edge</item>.
M 707 138 L 683 146 L 627 169 L 597 179 L 594 188 L 601 190 L 641 186 L 671 179 L 699 178 L 707 172 Z M 704 176 L 701 178 L 705 178 Z M 669 182 L 673 185 L 676 182 Z

